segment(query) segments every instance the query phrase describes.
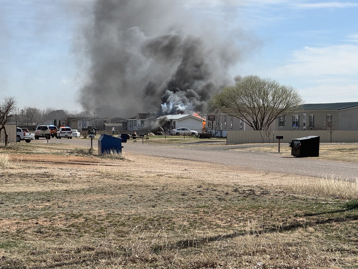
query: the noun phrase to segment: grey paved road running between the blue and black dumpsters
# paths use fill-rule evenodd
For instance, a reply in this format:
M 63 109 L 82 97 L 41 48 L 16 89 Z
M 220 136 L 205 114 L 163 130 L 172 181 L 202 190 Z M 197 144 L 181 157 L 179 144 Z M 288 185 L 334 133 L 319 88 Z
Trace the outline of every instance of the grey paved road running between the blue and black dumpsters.
M 46 143 L 46 140 L 32 141 Z M 90 140 L 84 139 L 51 139 L 50 143 L 71 143 L 82 146 L 90 146 Z M 97 141 L 93 141 L 93 147 L 97 149 Z M 318 158 L 296 158 L 285 157 L 279 154 L 266 152 L 231 151 L 250 145 L 223 145 L 205 146 L 198 143 L 179 145 L 158 145 L 151 143 L 142 144 L 122 143 L 124 152 L 135 152 L 140 154 L 178 158 L 184 160 L 206 161 L 211 163 L 228 164 L 237 167 L 254 169 L 257 171 L 273 171 L 287 174 L 298 174 L 306 176 L 323 176 L 328 178 L 339 178 L 349 181 L 358 179 L 358 163 L 326 161 Z M 257 146 L 257 144 L 255 145 Z

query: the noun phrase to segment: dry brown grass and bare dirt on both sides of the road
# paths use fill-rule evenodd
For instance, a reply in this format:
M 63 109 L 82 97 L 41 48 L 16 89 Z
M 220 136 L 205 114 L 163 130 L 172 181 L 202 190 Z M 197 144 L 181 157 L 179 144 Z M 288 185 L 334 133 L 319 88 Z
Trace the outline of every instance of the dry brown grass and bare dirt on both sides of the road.
M 1 269 L 358 267 L 355 182 L 61 143 L 2 147 L 0 172 Z

